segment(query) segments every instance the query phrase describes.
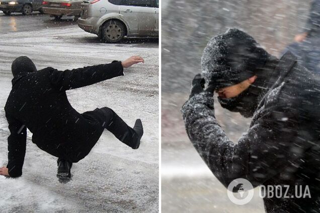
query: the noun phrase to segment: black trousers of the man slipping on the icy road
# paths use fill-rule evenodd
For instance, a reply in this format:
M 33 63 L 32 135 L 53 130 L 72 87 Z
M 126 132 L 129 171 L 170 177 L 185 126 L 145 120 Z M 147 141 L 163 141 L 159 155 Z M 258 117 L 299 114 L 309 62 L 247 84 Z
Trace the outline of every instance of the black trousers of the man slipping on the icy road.
M 99 117 L 99 120 L 102 121 L 101 126 L 111 132 L 119 141 L 130 147 L 136 146 L 138 135 L 112 109 L 104 107 L 90 113 Z M 57 164 L 59 164 L 61 160 L 66 159 L 58 158 Z M 72 162 L 70 160 L 68 161 L 72 166 Z

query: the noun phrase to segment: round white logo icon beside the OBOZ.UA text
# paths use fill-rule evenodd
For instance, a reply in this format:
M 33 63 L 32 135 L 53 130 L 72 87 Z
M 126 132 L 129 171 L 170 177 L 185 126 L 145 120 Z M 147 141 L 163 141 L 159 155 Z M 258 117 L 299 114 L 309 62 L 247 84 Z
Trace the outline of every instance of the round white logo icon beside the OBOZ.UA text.
M 237 205 L 244 205 L 253 198 L 253 185 L 244 178 L 237 178 L 228 185 L 227 193 L 231 202 Z

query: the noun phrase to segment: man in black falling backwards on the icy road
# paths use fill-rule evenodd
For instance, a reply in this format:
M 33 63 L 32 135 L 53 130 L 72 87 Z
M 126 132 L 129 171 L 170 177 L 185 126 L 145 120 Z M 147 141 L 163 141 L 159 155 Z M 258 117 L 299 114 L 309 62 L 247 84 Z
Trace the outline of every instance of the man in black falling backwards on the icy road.
M 10 130 L 8 165 L 0 168 L 0 174 L 22 175 L 27 128 L 33 134 L 33 143 L 58 157 L 57 176 L 61 179 L 71 177 L 72 162 L 89 154 L 104 129 L 132 149 L 137 149 L 143 134 L 140 119 L 132 129 L 107 107 L 79 114 L 71 107 L 65 91 L 121 76 L 123 68 L 139 62 L 144 61 L 132 56 L 123 62 L 65 71 L 47 67 L 37 71 L 26 56 L 14 60 L 12 90 L 5 106 Z

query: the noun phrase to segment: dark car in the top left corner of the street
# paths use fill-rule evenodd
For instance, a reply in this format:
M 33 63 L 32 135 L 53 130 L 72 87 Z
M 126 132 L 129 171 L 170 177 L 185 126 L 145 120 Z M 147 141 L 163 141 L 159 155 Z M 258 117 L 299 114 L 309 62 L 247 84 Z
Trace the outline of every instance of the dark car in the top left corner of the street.
M 32 11 L 39 11 L 42 13 L 43 0 L 0 0 L 0 11 L 4 14 L 18 12 L 24 15 L 30 15 Z

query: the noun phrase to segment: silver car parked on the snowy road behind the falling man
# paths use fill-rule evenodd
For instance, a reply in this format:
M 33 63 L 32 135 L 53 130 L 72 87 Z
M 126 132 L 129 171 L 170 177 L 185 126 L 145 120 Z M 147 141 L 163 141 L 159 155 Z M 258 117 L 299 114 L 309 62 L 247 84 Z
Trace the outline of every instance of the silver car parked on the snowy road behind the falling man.
M 158 0 L 87 0 L 78 26 L 107 43 L 124 36 L 158 37 Z

